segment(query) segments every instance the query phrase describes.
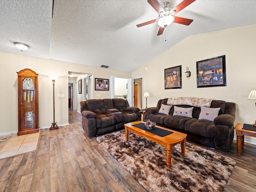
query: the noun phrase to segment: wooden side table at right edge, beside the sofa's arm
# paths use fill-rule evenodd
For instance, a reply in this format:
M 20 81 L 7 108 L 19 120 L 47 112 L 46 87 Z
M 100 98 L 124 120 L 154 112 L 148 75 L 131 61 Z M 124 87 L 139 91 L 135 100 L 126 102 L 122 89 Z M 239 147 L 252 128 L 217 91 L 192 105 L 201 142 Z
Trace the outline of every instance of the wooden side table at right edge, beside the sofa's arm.
M 244 148 L 244 136 L 252 136 L 256 137 L 256 131 L 246 130 L 242 129 L 244 127 L 244 124 L 238 123 L 235 126 L 236 130 L 236 151 L 238 155 L 242 154 L 242 148 Z

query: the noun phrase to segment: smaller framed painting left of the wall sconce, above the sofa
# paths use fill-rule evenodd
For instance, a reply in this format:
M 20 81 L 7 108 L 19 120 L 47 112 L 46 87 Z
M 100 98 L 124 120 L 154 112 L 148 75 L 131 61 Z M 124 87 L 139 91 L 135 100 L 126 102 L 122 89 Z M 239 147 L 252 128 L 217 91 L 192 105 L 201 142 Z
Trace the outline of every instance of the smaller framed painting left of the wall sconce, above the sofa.
M 164 89 L 181 88 L 181 65 L 164 69 Z

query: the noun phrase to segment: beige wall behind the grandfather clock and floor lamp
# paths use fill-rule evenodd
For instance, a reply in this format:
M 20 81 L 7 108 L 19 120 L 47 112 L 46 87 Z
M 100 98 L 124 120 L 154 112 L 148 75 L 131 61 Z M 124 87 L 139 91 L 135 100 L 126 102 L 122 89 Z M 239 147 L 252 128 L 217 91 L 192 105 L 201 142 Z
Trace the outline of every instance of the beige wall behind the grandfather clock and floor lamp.
M 94 74 L 96 78 L 108 79 L 110 75 L 131 77 L 131 73 L 98 67 L 90 67 L 56 60 L 0 52 L 1 99 L 0 134 L 18 131 L 18 71 L 30 68 L 39 74 L 39 126 L 50 126 L 53 122 L 53 86 L 49 75 L 57 75 L 55 82 L 55 121 L 58 125 L 68 123 L 68 71 Z M 93 82 L 94 83 L 94 82 Z M 57 98 L 65 94 L 65 98 Z M 93 91 L 93 98 L 109 98 L 108 91 Z M 98 97 L 99 98 L 99 97 Z M 80 108 L 80 106 L 79 106 Z

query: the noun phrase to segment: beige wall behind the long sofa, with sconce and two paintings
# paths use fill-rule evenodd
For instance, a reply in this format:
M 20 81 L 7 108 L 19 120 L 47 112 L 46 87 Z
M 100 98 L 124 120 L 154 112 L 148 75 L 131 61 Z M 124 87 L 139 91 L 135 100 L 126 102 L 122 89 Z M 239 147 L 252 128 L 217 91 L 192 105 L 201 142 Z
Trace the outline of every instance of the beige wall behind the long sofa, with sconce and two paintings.
M 189 36 L 148 62 L 147 70 L 142 66 L 132 72 L 132 77 L 143 76 L 144 90 L 150 94 L 148 107 L 172 96 L 214 98 L 236 103 L 235 124 L 252 124 L 256 120 L 256 100 L 247 100 L 247 96 L 256 89 L 255 32 L 253 24 Z M 226 86 L 197 88 L 196 62 L 222 55 L 226 55 Z M 182 89 L 165 90 L 164 69 L 179 65 L 182 65 Z M 186 67 L 191 71 L 190 78 L 185 76 Z

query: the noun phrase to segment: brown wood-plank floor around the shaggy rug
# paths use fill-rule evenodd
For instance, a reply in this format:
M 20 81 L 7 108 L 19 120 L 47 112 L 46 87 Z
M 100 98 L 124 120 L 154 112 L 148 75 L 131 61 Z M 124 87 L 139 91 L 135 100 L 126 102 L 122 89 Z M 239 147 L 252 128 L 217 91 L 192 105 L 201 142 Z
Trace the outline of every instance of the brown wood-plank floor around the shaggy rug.
M 0 159 L 0 191 L 145 191 L 96 138 L 85 135 L 81 114 L 69 111 L 69 123 L 41 130 L 38 150 Z M 234 140 L 230 152 L 220 153 L 236 160 L 224 191 L 256 192 L 256 146 L 246 143 L 238 156 Z

